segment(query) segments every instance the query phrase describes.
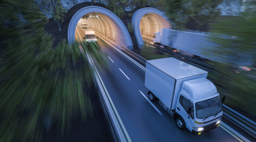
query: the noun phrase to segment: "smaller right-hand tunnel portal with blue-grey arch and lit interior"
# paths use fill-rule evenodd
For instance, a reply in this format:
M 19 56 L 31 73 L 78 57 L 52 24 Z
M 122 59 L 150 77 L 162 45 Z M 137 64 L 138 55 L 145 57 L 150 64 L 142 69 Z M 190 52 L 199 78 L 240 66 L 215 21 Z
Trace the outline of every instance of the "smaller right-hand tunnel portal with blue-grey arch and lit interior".
M 146 14 L 149 14 L 152 18 L 143 18 Z M 152 22 L 156 23 L 155 26 Z M 153 34 L 159 32 L 162 28 L 172 28 L 171 21 L 164 12 L 151 7 L 137 10 L 132 16 L 132 24 L 139 49 L 142 49 L 142 45 L 144 45 L 142 35 L 148 35 L 153 39 Z

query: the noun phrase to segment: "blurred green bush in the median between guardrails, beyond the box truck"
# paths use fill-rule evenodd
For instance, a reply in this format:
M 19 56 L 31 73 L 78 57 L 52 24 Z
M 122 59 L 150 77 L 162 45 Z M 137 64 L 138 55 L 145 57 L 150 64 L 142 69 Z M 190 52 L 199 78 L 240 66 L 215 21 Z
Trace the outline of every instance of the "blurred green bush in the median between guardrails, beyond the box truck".
M 161 58 L 169 58 L 170 56 L 167 54 L 160 54 L 157 55 L 157 53 L 148 47 L 147 44 L 143 45 L 141 51 L 141 56 L 145 58 L 146 60 L 155 60 L 155 59 L 161 59 Z

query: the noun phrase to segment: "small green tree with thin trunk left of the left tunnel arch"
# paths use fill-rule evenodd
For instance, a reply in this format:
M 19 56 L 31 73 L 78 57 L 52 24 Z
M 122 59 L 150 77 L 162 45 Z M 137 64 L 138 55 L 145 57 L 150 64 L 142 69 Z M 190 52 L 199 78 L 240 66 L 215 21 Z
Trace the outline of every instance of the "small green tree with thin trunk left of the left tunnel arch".
M 51 16 L 57 21 L 59 30 L 61 31 L 61 24 L 64 23 L 64 16 L 67 10 L 62 7 L 61 0 L 51 0 Z

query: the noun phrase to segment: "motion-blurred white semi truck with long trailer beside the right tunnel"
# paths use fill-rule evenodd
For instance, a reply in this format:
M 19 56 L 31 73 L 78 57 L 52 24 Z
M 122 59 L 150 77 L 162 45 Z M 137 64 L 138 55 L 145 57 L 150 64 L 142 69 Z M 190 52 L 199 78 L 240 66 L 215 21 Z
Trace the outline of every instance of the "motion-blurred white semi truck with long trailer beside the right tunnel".
M 204 34 L 203 34 L 204 33 Z M 197 58 L 199 60 L 213 60 L 218 62 L 217 59 L 213 59 L 205 55 L 205 51 L 209 50 L 211 46 L 214 46 L 208 38 L 210 35 L 206 32 L 199 31 L 177 31 L 171 28 L 162 29 L 158 33 L 154 34 L 154 45 L 159 47 L 171 47 L 173 52 L 188 56 L 190 58 Z

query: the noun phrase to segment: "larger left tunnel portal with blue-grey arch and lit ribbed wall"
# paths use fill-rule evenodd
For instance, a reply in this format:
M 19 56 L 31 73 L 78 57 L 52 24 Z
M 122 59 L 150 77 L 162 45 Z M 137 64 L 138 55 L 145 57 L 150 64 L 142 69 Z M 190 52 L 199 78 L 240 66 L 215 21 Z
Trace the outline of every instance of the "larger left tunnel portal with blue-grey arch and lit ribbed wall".
M 98 6 L 87 6 L 74 14 L 68 27 L 69 44 L 75 41 L 76 26 L 81 22 L 86 22 L 90 30 L 107 41 L 133 49 L 130 34 L 123 22 L 111 11 Z

